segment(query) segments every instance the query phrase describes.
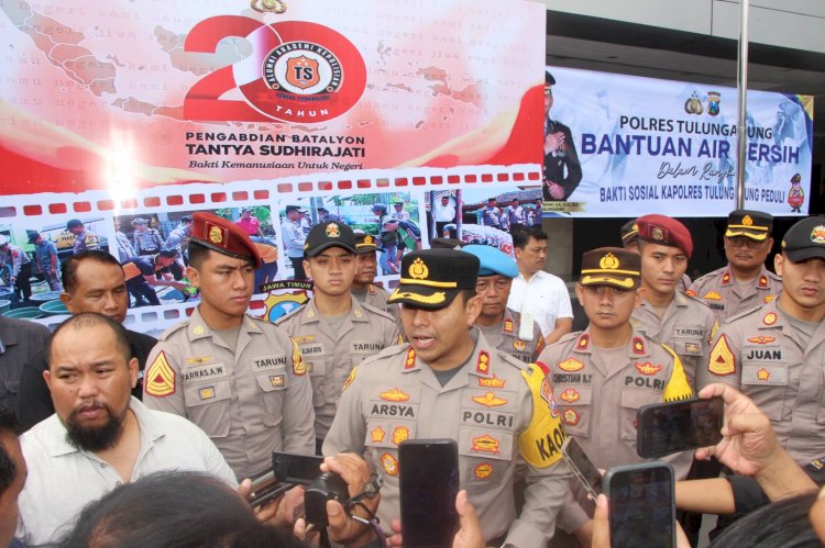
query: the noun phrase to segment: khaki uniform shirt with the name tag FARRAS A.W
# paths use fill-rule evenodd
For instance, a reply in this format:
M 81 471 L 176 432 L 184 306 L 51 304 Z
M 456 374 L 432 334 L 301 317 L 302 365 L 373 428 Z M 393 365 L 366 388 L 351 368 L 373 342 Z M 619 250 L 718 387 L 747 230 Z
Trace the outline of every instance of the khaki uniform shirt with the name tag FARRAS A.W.
M 268 470 L 272 451 L 315 452 L 307 368 L 274 325 L 245 316 L 233 349 L 195 310 L 161 335 L 147 362 L 146 406 L 200 426 L 239 480 Z

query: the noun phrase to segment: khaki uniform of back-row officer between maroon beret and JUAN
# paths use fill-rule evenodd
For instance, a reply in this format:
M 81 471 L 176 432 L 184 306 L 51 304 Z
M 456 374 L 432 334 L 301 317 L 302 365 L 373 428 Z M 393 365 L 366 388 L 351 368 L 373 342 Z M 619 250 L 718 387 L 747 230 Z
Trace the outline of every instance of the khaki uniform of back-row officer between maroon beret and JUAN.
M 751 283 L 739 287 L 729 267 L 706 273 L 686 293 L 701 299 L 721 323 L 755 306 L 763 306 L 782 292 L 782 278 L 765 266 Z

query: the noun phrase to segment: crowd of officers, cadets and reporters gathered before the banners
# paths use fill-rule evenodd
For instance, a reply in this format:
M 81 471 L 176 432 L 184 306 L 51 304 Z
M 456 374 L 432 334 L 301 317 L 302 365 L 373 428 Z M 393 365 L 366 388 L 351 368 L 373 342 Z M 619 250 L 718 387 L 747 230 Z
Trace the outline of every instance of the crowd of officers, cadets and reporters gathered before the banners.
M 513 232 L 515 261 L 455 241 L 410 248 L 386 291 L 380 237 L 339 219 L 304 234 L 299 212 L 287 206 L 302 236 L 287 254 L 314 297 L 275 324 L 246 313 L 263 262 L 251 221 L 193 215 L 185 273 L 200 303 L 157 340 L 122 325 L 125 266 L 95 249 L 63 265 L 72 317 L 26 333 L 29 356 L 4 379 L 19 389 L 0 399 L 16 410 L 0 413 L 0 545 L 300 546 L 316 530 L 301 488 L 244 501 L 287 451 L 324 456 L 318 472 L 356 501 L 327 503 L 321 541 L 399 546 L 398 446 L 450 438 L 453 546 L 607 547 L 606 502 L 582 492 L 562 443 L 574 437 L 601 469 L 642 462 L 637 410 L 698 394 L 724 399 L 725 427 L 716 446 L 666 458 L 680 546 L 695 544 L 702 514 L 738 518 L 719 521 L 714 546 L 818 546 L 825 219 L 785 233 L 774 275 L 772 219 L 734 211 L 728 264 L 690 282 L 690 232 L 644 215 L 624 247 L 583 255 L 586 325 L 573 332 L 539 225 Z M 18 324 L 0 336 L 23 349 Z

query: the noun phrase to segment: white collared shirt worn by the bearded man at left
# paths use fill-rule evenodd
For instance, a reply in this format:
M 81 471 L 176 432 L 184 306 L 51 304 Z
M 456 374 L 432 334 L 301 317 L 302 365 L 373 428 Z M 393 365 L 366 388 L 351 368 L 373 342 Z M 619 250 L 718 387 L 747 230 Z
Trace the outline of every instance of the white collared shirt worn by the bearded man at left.
M 141 428 L 141 449 L 132 480 L 158 471 L 208 472 L 238 485 L 235 474 L 218 448 L 196 425 L 177 415 L 147 409 L 132 398 L 130 409 Z M 20 493 L 16 537 L 26 546 L 57 543 L 70 532 L 88 503 L 123 481 L 98 456 L 66 439 L 66 427 L 52 415 L 20 437 L 29 478 Z

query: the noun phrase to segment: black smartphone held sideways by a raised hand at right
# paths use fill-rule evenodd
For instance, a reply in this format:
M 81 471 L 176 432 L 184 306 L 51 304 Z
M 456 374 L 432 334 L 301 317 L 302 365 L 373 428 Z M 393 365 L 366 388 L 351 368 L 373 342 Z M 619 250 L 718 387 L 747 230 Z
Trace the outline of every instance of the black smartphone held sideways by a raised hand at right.
M 650 459 L 716 445 L 724 416 L 725 403 L 718 396 L 645 405 L 636 415 L 636 451 Z

